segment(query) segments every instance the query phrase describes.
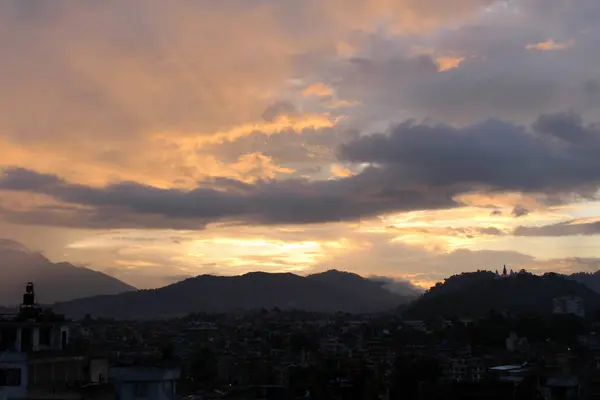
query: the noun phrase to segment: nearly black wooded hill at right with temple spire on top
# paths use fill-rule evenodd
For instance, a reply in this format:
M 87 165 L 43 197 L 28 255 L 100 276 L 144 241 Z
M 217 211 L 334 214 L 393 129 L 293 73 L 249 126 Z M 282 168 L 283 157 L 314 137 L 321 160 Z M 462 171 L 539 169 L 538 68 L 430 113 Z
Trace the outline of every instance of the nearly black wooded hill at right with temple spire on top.
M 528 273 L 496 279 L 492 272 L 472 272 L 452 276 L 438 283 L 409 305 L 407 318 L 438 316 L 478 317 L 490 310 L 512 313 L 552 313 L 555 297 L 580 296 L 587 312 L 600 309 L 600 294 L 563 276 Z

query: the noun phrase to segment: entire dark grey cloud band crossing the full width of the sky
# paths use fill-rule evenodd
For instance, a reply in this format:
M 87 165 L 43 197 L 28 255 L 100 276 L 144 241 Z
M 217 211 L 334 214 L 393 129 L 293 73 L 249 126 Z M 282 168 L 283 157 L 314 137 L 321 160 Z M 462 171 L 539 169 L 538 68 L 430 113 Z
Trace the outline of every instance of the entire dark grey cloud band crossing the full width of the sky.
M 342 145 L 341 161 L 371 165 L 347 178 L 253 184 L 218 178 L 186 191 L 135 182 L 92 187 L 12 168 L 0 177 L 0 190 L 43 194 L 66 204 L 64 210 L 3 211 L 20 222 L 41 223 L 48 214 L 68 226 L 308 224 L 452 208 L 459 205 L 457 195 L 473 191 L 542 193 L 553 202 L 591 198 L 600 183 L 599 151 L 598 127 L 584 125 L 573 113 L 543 115 L 531 129 L 499 120 L 464 128 L 408 121 L 389 134 Z

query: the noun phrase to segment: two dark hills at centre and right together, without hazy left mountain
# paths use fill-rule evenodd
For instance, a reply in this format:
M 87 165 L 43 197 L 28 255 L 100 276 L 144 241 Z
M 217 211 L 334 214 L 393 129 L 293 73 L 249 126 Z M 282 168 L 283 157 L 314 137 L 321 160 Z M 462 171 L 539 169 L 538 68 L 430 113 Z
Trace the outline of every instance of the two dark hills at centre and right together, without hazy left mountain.
M 519 273 L 498 278 L 489 271 L 462 273 L 436 284 L 423 295 L 398 295 L 387 281 L 331 270 L 306 277 L 252 272 L 240 276 L 202 275 L 154 290 L 95 296 L 62 302 L 55 308 L 71 317 L 91 314 L 117 319 L 169 318 L 192 312 L 250 309 L 301 309 L 351 313 L 402 310 L 406 318 L 479 317 L 490 310 L 552 313 L 555 297 L 584 300 L 587 313 L 600 311 L 593 290 L 600 274 L 542 276 Z M 598 287 L 598 286 L 596 286 Z

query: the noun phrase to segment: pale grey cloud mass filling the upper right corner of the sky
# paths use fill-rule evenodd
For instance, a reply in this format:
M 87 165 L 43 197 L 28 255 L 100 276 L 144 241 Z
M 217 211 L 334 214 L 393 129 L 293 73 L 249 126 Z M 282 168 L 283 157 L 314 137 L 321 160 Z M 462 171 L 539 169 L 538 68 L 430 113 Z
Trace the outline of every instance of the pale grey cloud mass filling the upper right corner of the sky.
M 355 110 L 358 116 L 353 114 L 360 122 L 410 116 L 465 125 L 493 116 L 530 123 L 541 113 L 569 107 L 598 117 L 595 66 L 600 57 L 593 48 L 600 29 L 593 18 L 600 15 L 600 2 L 504 3 L 429 36 L 362 37 L 353 42 L 359 54 L 324 75 L 334 77 L 343 98 L 363 102 Z M 563 47 L 527 48 L 550 40 Z M 439 56 L 462 62 L 438 72 L 434 61 Z

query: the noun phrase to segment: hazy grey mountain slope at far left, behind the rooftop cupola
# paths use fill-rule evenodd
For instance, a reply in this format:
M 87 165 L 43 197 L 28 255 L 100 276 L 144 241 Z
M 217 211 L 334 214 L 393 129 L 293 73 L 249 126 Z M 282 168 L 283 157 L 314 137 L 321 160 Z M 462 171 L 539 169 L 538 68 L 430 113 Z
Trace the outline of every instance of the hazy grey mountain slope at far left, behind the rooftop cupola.
M 135 290 L 109 275 L 66 262 L 53 263 L 18 242 L 0 239 L 0 305 L 19 304 L 30 281 L 36 284 L 38 302 L 44 304 Z

